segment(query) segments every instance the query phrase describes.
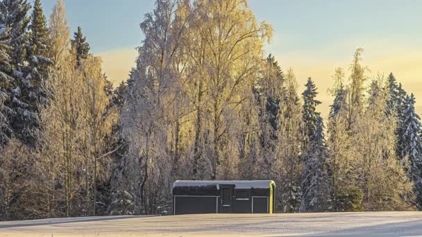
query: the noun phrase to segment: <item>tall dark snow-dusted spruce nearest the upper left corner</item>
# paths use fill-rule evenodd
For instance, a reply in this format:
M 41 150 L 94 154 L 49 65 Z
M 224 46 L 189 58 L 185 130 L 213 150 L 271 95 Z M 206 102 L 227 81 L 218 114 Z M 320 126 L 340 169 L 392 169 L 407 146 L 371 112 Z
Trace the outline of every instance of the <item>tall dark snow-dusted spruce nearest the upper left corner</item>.
M 31 6 L 26 0 L 4 0 L 0 6 L 0 22 L 10 30 L 10 76 L 15 78 L 12 94 L 10 94 L 10 126 L 15 137 L 26 145 L 35 143 L 36 111 L 35 85 L 31 78 L 31 68 L 28 66 L 28 26 L 30 17 L 28 11 Z

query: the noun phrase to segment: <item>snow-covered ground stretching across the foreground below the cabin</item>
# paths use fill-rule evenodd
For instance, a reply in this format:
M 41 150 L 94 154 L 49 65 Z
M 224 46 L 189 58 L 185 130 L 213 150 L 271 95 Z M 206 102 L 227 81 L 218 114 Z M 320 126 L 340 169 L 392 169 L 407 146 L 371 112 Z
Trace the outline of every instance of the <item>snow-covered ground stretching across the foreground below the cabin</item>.
M 422 236 L 422 212 L 62 218 L 0 222 L 0 236 Z

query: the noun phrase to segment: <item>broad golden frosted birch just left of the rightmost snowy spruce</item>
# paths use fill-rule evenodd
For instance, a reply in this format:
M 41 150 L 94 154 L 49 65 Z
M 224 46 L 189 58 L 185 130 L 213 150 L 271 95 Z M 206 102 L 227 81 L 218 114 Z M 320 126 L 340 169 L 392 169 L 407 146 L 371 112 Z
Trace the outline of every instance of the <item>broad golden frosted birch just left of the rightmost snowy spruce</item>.
M 410 209 L 412 182 L 396 157 L 395 115 L 385 113 L 389 91 L 377 78 L 371 83 L 369 105 L 354 130 L 353 151 L 356 183 L 360 186 L 365 210 Z

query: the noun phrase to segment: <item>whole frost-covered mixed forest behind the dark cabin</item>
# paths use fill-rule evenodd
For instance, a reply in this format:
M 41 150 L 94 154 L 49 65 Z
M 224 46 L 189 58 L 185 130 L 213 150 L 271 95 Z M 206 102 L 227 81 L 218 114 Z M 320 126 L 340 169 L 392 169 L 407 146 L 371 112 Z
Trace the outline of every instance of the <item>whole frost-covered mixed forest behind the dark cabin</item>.
M 114 89 L 62 0 L 0 0 L 0 220 L 165 215 L 177 179 L 273 179 L 284 213 L 422 209 L 414 95 L 362 49 L 323 119 L 246 0 L 157 0 L 140 30 Z

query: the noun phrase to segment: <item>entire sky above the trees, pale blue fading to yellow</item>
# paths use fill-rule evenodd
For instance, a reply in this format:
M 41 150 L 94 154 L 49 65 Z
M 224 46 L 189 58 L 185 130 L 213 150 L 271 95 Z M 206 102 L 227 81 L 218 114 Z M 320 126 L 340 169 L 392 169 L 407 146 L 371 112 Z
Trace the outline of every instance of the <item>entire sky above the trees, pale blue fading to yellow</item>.
M 33 1 L 33 0 L 31 0 Z M 64 0 L 69 25 L 82 26 L 92 52 L 115 82 L 127 78 L 140 45 L 139 24 L 154 0 Z M 370 77 L 393 71 L 407 91 L 422 100 L 422 1 L 419 0 L 249 0 L 259 21 L 273 25 L 267 53 L 283 70 L 292 67 L 298 83 L 312 76 L 320 91 L 321 110 L 328 112 L 335 67 L 348 68 L 351 55 L 363 47 Z M 46 15 L 56 0 L 42 0 Z M 73 33 L 72 33 L 73 35 Z M 303 87 L 302 87 L 303 88 Z M 422 103 L 418 103 L 422 112 Z

